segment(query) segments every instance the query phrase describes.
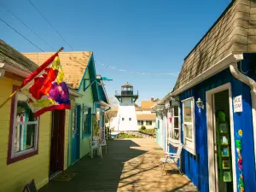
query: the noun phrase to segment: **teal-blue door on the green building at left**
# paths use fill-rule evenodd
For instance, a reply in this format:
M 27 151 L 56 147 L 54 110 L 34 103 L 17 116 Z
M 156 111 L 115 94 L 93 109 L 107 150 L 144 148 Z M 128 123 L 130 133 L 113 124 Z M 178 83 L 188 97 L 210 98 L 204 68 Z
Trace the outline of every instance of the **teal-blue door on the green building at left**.
M 72 163 L 79 160 L 80 146 L 80 107 L 73 107 L 72 113 Z

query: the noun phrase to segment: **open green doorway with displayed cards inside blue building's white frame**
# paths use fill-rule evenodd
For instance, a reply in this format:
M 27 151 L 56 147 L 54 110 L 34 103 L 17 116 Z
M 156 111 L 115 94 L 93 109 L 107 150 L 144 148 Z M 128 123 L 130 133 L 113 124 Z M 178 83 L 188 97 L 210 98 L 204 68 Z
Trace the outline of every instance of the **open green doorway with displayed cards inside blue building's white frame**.
M 213 94 L 212 103 L 216 189 L 219 192 L 229 192 L 233 191 L 229 90 Z

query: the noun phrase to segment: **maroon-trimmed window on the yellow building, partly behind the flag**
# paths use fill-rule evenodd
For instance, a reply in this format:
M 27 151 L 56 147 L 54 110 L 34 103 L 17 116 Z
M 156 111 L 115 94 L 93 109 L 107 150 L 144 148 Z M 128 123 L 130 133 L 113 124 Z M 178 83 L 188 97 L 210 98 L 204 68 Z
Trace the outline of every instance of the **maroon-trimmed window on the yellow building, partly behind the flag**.
M 28 97 L 21 92 L 12 100 L 8 164 L 38 154 L 38 118 L 27 101 Z

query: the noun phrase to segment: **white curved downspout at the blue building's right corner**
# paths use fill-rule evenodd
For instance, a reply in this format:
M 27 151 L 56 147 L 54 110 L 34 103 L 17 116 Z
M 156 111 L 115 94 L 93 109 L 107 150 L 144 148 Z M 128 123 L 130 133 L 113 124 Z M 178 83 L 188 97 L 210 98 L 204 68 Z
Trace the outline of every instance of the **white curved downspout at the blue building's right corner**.
M 241 73 L 237 67 L 237 63 L 230 64 L 230 73 L 242 83 L 247 84 L 251 89 L 252 99 L 252 118 L 253 118 L 253 140 L 254 140 L 254 155 L 256 155 L 256 82 L 247 75 Z M 256 158 L 255 158 L 256 165 Z

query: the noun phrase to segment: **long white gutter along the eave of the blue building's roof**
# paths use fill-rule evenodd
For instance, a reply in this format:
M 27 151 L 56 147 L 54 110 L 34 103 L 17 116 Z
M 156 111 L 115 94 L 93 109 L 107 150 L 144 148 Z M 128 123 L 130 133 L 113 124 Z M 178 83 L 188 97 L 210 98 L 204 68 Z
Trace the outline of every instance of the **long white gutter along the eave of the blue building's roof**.
M 178 88 L 177 90 L 172 91 L 171 96 L 177 96 L 185 90 L 193 87 L 195 84 L 199 84 L 205 79 L 212 77 L 213 75 L 223 71 L 225 68 L 230 67 L 230 63 L 236 63 L 242 60 L 242 54 L 234 54 L 230 53 L 224 57 L 224 59 L 218 61 L 215 65 L 208 68 L 204 73 L 196 76 L 195 79 L 189 81 L 189 83 L 184 84 L 182 87 Z

